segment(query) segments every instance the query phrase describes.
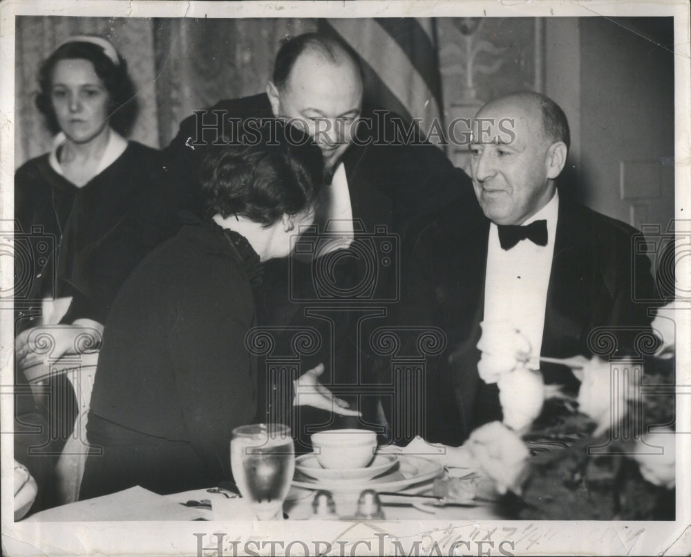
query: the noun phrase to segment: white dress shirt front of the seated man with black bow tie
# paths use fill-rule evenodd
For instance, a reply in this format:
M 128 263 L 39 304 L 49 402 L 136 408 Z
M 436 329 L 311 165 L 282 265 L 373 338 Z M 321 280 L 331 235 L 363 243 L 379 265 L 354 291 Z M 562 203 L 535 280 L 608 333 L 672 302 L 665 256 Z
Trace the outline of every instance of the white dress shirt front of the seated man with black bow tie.
M 523 223 L 547 220 L 547 246 L 524 239 L 503 250 L 497 226 L 491 223 L 489 229 L 484 320 L 510 321 L 529 340 L 531 356 L 540 356 L 542 348 L 558 210 L 559 196 L 555 192 L 545 207 Z M 531 367 L 538 369 L 538 362 Z

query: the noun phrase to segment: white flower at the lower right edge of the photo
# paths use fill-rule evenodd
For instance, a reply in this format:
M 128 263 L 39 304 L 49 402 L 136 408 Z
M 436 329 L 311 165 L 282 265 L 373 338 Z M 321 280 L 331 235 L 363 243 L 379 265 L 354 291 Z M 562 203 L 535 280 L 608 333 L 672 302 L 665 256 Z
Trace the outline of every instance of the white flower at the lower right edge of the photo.
M 656 486 L 674 488 L 676 457 L 672 430 L 644 435 L 643 439 L 636 442 L 633 459 L 638 462 L 645 480 Z

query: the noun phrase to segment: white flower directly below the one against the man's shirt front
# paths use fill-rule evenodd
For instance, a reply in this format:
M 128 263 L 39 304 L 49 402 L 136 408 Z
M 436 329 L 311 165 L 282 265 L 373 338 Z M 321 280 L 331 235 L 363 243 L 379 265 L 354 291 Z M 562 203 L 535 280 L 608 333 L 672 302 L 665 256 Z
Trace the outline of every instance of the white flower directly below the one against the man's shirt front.
M 529 428 L 542 412 L 545 383 L 536 369 L 519 367 L 499 376 L 499 401 L 504 424 L 515 431 Z

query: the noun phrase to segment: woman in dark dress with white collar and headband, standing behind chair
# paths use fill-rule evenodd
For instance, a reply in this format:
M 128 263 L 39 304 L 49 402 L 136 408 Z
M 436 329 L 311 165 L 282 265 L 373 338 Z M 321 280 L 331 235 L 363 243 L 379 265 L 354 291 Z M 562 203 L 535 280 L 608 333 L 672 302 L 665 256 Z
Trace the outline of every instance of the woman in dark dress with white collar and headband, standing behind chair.
M 111 301 L 133 263 L 122 261 L 132 258 L 126 246 L 124 257 L 110 250 L 102 264 L 93 264 L 94 255 L 106 253 L 103 243 L 118 236 L 162 169 L 157 150 L 121 135 L 135 116 L 134 91 L 125 60 L 106 39 L 80 35 L 61 44 L 41 65 L 39 89 L 37 107 L 56 135 L 51 152 L 15 173 L 17 392 L 26 390 L 23 370 L 40 367 L 43 358 L 100 345 Z M 15 460 L 39 488 L 32 510 L 61 502 L 55 463 L 77 412 L 64 376 L 51 377 L 48 387 L 40 405 L 26 394 L 15 404 Z

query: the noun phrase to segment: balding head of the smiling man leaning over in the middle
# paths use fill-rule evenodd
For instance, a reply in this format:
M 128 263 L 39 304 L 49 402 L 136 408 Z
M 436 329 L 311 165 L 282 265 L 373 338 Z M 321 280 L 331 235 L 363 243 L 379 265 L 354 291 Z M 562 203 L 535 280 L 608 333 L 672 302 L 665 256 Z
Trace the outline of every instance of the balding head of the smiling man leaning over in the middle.
M 348 47 L 316 33 L 290 39 L 276 56 L 267 94 L 274 116 L 314 138 L 326 170 L 337 165 L 352 141 L 363 95 L 361 69 Z

